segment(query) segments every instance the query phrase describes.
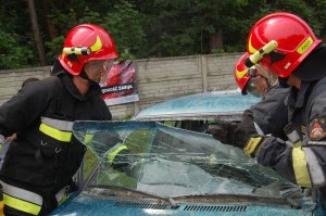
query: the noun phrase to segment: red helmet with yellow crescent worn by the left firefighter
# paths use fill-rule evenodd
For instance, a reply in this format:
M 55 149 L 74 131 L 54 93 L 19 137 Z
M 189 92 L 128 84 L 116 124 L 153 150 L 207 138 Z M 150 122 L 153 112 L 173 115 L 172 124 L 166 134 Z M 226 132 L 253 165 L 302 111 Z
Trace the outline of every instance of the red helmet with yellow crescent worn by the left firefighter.
M 114 42 L 103 28 L 82 24 L 66 36 L 59 61 L 70 74 L 76 76 L 88 61 L 111 60 L 117 56 Z

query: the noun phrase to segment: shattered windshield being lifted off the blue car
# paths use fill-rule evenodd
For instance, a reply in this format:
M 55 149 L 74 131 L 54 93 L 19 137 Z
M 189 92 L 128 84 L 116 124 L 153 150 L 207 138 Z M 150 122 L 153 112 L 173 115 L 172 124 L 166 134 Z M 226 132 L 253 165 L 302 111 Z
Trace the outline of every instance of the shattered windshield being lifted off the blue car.
M 158 122 L 76 122 L 75 137 L 98 160 L 91 187 L 162 198 L 241 194 L 293 198 L 301 189 L 209 135 Z

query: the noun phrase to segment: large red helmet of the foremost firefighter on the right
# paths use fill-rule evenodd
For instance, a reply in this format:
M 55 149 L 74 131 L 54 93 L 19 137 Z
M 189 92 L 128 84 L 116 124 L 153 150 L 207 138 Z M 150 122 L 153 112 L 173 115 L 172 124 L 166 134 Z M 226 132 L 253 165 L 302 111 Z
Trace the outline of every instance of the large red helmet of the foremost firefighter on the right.
M 272 13 L 254 24 L 248 36 L 247 51 L 256 53 L 272 40 L 277 47 L 264 55 L 260 64 L 279 77 L 288 77 L 322 42 L 304 21 L 285 12 Z

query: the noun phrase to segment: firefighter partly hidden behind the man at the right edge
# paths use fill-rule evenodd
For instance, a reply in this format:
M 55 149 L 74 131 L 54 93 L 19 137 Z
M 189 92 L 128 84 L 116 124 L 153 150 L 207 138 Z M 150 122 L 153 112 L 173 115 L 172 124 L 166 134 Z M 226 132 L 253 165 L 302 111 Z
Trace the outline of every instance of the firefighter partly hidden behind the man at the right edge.
M 250 54 L 244 53 L 235 66 L 235 79 L 242 94 L 250 93 L 261 97 L 262 101 L 246 110 L 241 122 L 226 122 L 216 119 L 215 125 L 208 129 L 215 139 L 235 147 L 243 148 L 247 139 L 252 135 L 275 135 L 285 137 L 281 129 L 287 123 L 285 99 L 289 93 L 286 88 L 280 88 L 277 76 L 267 76 L 260 73 L 254 66 L 248 68 L 244 60 Z

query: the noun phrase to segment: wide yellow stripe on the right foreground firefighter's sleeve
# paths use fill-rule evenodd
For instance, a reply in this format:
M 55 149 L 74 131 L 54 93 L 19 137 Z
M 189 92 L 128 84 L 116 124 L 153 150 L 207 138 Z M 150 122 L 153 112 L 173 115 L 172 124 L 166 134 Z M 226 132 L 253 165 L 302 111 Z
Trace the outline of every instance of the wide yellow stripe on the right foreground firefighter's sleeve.
M 294 145 L 292 149 L 292 165 L 297 183 L 305 188 L 311 188 L 308 164 L 301 145 Z

